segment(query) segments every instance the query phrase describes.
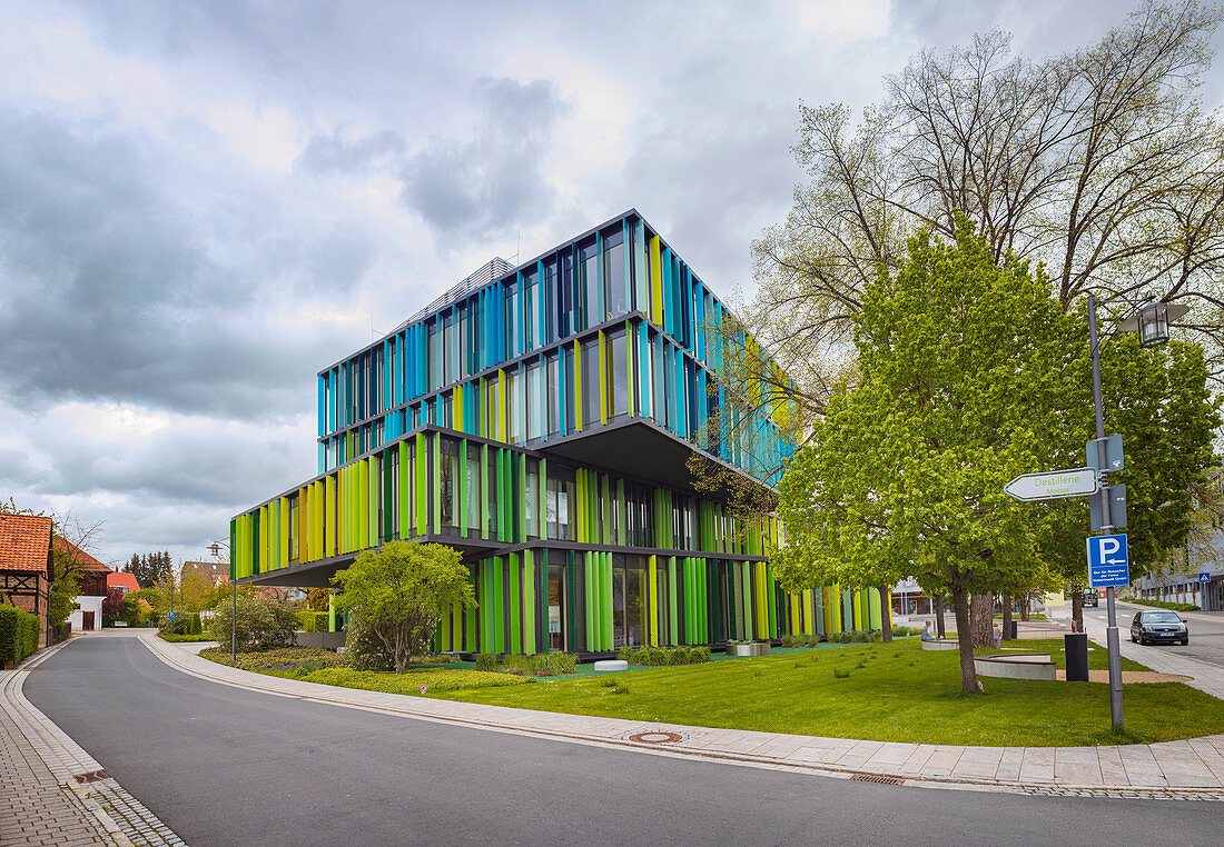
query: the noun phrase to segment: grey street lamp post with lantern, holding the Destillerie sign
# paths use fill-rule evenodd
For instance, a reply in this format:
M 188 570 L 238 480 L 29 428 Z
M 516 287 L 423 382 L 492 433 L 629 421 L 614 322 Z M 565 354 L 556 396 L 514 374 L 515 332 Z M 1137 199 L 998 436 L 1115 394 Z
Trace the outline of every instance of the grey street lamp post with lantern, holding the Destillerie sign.
M 1169 340 L 1169 321 L 1184 315 L 1189 307 L 1177 303 L 1153 302 L 1148 296 L 1132 307 L 1121 321 L 1120 332 L 1140 334 L 1140 345 L 1157 347 Z M 1092 398 L 1097 413 L 1097 464 L 1100 468 L 1100 529 L 1109 533 L 1114 528 L 1110 515 L 1109 464 L 1105 461 L 1105 409 L 1100 401 L 1100 347 L 1097 342 L 1097 298 L 1088 295 L 1088 345 L 1092 352 Z M 1105 589 L 1109 623 L 1105 645 L 1109 651 L 1109 716 L 1114 726 L 1122 725 L 1122 654 L 1118 638 L 1118 607 L 1114 587 Z

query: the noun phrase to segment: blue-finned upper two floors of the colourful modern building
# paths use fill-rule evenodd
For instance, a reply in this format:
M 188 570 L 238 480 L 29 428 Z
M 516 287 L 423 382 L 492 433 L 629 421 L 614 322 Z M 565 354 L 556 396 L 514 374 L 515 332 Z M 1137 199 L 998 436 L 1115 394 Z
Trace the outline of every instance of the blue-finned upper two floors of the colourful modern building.
M 319 372 L 318 472 L 425 424 L 540 446 L 645 418 L 772 483 L 787 403 L 718 413 L 728 337 L 754 346 L 630 210 L 518 268 L 494 259 Z

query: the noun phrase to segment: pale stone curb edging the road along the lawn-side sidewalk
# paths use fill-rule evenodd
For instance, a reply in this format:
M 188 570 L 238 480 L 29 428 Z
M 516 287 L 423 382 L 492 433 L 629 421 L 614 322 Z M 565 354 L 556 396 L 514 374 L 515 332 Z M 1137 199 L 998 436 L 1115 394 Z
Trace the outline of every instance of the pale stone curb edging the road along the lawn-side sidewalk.
M 1102 786 L 1102 785 L 1054 783 L 1053 781 L 1048 783 L 1018 782 L 1018 781 L 991 780 L 991 779 L 972 779 L 963 776 L 953 777 L 953 776 L 935 776 L 935 775 L 914 775 L 901 771 L 880 770 L 878 768 L 864 770 L 863 768 L 842 766 L 831 763 L 797 761 L 797 760 L 782 759 L 778 757 L 771 757 L 758 753 L 736 753 L 731 750 L 698 748 L 698 747 L 685 746 L 683 741 L 679 743 L 668 743 L 666 747 L 663 747 L 661 744 L 651 744 L 651 743 L 643 743 L 640 741 L 634 741 L 630 737 L 641 733 L 671 732 L 672 730 L 679 730 L 681 732 L 678 735 L 681 735 L 683 739 L 683 738 L 700 737 L 703 733 L 709 732 L 709 727 L 659 725 L 659 724 L 650 724 L 647 721 L 625 721 L 622 719 L 597 719 L 600 721 L 618 721 L 625 725 L 624 728 L 627 731 L 617 732 L 614 735 L 591 735 L 591 733 L 583 733 L 574 731 L 545 728 L 539 726 L 526 726 L 523 724 L 513 724 L 507 721 L 477 719 L 461 715 L 442 715 L 435 711 L 425 711 L 417 708 L 412 708 L 411 703 L 414 700 L 424 700 L 430 704 L 450 703 L 450 702 L 435 700 L 431 698 L 417 698 L 410 694 L 382 694 L 382 697 L 384 698 L 397 698 L 395 700 L 393 700 L 394 705 L 390 705 L 388 703 L 360 703 L 351 699 L 349 700 L 340 699 L 337 697 L 338 692 L 357 692 L 359 689 L 323 686 L 318 683 L 302 682 L 300 680 L 290 681 L 290 680 L 282 680 L 280 677 L 269 677 L 261 673 L 255 673 L 251 671 L 244 671 L 240 669 L 230 667 L 229 665 L 213 662 L 208 659 L 202 659 L 198 655 L 184 650 L 181 648 L 174 648 L 170 644 L 160 643 L 155 636 L 141 634 L 140 638 L 144 643 L 144 645 L 149 649 L 149 651 L 153 653 L 153 655 L 155 655 L 168 666 L 174 667 L 175 670 L 179 670 L 184 673 L 195 676 L 197 678 L 208 680 L 211 682 L 233 686 L 235 688 L 244 688 L 247 691 L 255 691 L 264 694 L 272 694 L 274 697 L 288 697 L 290 699 L 310 700 L 324 705 L 360 709 L 364 711 L 373 711 L 378 714 L 387 714 L 387 715 L 409 717 L 415 720 L 433 721 L 439 724 L 468 726 L 472 728 L 490 730 L 496 732 L 525 735 L 540 738 L 550 738 L 554 741 L 605 747 L 611 749 L 625 749 L 635 753 L 649 753 L 651 755 L 714 760 L 725 764 L 737 764 L 749 768 L 765 768 L 770 770 L 785 770 L 791 772 L 813 774 L 831 779 L 889 782 L 891 785 L 903 785 L 911 787 L 1007 792 L 1007 793 L 1022 793 L 1022 794 L 1067 796 L 1067 797 L 1124 797 L 1124 798 L 1141 797 L 1143 799 L 1191 799 L 1191 801 L 1224 802 L 1224 787 L 1208 787 L 1208 786 L 1162 787 L 1162 786 L 1131 786 L 1131 785 Z M 195 661 L 190 661 L 192 659 Z M 206 662 L 206 665 L 200 665 L 198 662 Z M 226 676 L 226 675 L 233 675 L 233 676 Z M 271 682 L 273 680 L 277 682 Z M 307 688 L 299 689 L 297 692 L 291 692 L 285 689 L 284 683 L 294 683 L 295 688 L 300 686 L 306 686 Z M 318 691 L 316 693 L 312 692 L 311 689 L 318 689 Z M 364 692 L 364 691 L 360 693 L 370 694 L 370 692 Z M 486 708 L 504 709 L 509 713 L 529 713 L 532 715 L 556 714 L 556 713 L 531 713 L 530 710 L 514 709 L 509 706 L 486 706 Z M 865 743 L 865 742 L 857 742 L 853 739 L 837 739 L 837 741 L 841 741 L 842 743 L 846 744 Z

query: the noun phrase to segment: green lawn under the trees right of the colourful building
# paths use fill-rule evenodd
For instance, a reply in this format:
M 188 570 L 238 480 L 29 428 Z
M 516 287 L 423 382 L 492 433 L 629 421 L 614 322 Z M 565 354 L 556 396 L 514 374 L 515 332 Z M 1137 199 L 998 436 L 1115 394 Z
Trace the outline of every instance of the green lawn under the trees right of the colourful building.
M 1061 639 L 1017 644 L 1061 653 Z M 1089 653 L 1092 666 L 1104 667 L 1103 656 Z M 835 671 L 848 676 L 837 678 Z M 606 677 L 541 681 L 438 692 L 438 697 L 694 726 L 936 744 L 1151 743 L 1224 732 L 1224 702 L 1181 683 L 1127 686 L 1127 731 L 1121 736 L 1109 730 L 1109 691 L 1102 683 L 983 678 L 985 694 L 966 697 L 960 691 L 957 654 L 923 651 L 914 639 L 650 669 L 622 673 L 617 684 L 608 682 Z

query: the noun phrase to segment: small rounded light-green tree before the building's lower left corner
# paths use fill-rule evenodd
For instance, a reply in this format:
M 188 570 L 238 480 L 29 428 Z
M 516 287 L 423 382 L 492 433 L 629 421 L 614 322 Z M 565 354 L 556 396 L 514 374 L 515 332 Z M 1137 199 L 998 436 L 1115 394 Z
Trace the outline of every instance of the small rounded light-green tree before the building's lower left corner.
M 403 673 L 425 651 L 444 611 L 475 605 L 459 551 L 442 544 L 390 541 L 367 550 L 332 582 L 335 606 L 368 627 Z

